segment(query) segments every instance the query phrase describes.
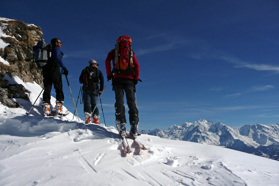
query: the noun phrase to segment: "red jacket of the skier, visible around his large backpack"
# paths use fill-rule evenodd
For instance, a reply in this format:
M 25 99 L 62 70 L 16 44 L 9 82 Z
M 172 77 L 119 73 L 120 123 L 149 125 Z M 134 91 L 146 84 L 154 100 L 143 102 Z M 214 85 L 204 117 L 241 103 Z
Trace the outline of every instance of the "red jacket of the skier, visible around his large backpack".
M 108 54 L 107 58 L 105 61 L 106 64 L 106 70 L 107 70 L 107 75 L 111 75 L 111 64 L 110 61 L 112 61 L 112 64 L 114 66 L 114 59 L 115 59 L 115 49 L 112 49 Z M 137 58 L 135 55 L 133 55 L 133 64 L 134 64 L 134 69 L 135 69 L 135 80 L 139 79 L 139 63 L 137 62 Z M 131 78 L 134 79 L 134 75 L 132 73 L 130 74 L 115 74 L 113 78 Z

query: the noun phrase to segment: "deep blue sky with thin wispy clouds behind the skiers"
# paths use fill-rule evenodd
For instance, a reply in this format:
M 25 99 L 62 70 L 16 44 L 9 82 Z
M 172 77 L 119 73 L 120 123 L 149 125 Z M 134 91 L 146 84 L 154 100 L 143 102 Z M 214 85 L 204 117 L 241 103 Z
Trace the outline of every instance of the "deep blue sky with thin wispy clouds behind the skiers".
M 78 77 L 88 61 L 98 61 L 105 74 L 107 53 L 119 36 L 128 35 L 142 80 L 136 86 L 140 129 L 167 130 L 201 118 L 233 128 L 279 123 L 278 1 L 1 1 L 0 5 L 1 17 L 41 27 L 47 42 L 60 38 L 75 103 Z M 115 95 L 110 85 L 111 81 L 101 100 L 106 125 L 114 126 Z M 64 105 L 74 112 L 65 78 L 63 89 Z M 83 118 L 83 105 L 78 103 L 77 110 Z

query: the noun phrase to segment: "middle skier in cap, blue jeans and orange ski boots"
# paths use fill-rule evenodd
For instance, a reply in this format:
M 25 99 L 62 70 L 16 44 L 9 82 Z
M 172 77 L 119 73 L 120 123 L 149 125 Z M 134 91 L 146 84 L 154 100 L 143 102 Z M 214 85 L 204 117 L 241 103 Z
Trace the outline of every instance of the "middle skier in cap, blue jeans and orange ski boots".
M 83 113 L 85 116 L 85 123 L 92 123 L 91 115 L 93 116 L 93 123 L 99 124 L 99 109 L 95 108 L 98 95 L 101 95 L 104 89 L 104 77 L 102 72 L 98 69 L 100 65 L 96 60 L 89 61 L 90 66 L 87 66 L 80 74 L 79 82 L 83 83 Z M 99 89 L 100 81 L 100 89 Z

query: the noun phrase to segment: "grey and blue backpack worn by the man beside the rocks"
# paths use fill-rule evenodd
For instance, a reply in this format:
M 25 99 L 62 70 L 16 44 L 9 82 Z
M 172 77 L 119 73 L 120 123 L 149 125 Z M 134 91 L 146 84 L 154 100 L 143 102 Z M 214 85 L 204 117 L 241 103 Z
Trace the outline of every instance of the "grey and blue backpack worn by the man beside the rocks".
M 51 63 L 51 44 L 39 41 L 33 46 L 33 60 L 39 68 L 46 68 Z

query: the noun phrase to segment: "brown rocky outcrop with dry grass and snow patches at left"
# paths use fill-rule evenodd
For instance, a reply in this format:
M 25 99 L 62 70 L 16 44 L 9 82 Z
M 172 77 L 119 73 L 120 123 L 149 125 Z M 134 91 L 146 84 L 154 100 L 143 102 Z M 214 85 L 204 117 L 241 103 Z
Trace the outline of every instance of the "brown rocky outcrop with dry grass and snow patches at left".
M 10 85 L 4 81 L 5 74 L 18 76 L 23 82 L 35 81 L 41 87 L 41 72 L 33 63 L 33 46 L 43 40 L 40 27 L 23 21 L 0 18 L 0 101 L 14 108 L 20 104 L 10 98 L 28 99 L 22 85 Z

